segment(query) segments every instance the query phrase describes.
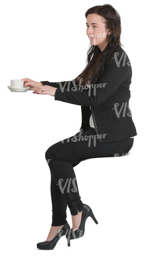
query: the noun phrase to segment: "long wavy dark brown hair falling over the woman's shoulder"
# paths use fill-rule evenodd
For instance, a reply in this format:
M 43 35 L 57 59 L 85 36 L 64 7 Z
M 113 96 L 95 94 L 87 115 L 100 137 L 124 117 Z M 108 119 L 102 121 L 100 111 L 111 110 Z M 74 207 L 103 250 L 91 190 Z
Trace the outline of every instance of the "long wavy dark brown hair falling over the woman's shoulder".
M 106 30 L 111 31 L 110 35 L 107 35 L 107 45 L 103 51 L 97 45 L 91 45 L 87 51 L 86 67 L 79 75 L 79 78 L 75 78 L 76 84 L 79 84 L 81 78 L 81 86 L 83 88 L 88 84 L 96 84 L 98 78 L 104 73 L 105 63 L 109 54 L 115 50 L 119 45 L 123 46 L 120 43 L 120 34 L 121 34 L 121 23 L 120 15 L 110 4 L 103 4 L 102 6 L 93 6 L 89 8 L 85 17 L 90 13 L 95 13 L 102 16 L 102 20 L 105 24 Z

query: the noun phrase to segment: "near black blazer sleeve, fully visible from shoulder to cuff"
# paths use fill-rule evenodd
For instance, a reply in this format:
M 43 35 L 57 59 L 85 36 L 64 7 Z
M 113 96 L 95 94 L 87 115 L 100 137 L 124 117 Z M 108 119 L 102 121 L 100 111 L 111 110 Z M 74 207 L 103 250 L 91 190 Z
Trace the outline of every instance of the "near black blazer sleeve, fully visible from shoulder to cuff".
M 80 106 L 97 106 L 106 100 L 115 90 L 124 82 L 129 74 L 129 65 L 120 62 L 119 67 L 115 58 L 107 61 L 106 68 L 97 84 L 88 90 L 70 90 L 61 91 L 57 88 L 55 91 L 55 100 L 76 104 Z

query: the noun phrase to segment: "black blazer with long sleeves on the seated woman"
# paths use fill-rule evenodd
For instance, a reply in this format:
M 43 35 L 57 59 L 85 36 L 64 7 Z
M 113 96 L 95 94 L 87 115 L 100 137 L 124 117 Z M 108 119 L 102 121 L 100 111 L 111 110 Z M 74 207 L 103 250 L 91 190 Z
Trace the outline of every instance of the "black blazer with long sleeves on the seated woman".
M 119 45 L 109 54 L 105 71 L 97 84 L 82 89 L 81 82 L 41 81 L 56 87 L 55 100 L 81 106 L 81 131 L 86 131 L 92 114 L 97 138 L 100 142 L 115 142 L 137 135 L 129 108 L 132 69 L 126 52 Z M 90 107 L 91 106 L 91 110 Z

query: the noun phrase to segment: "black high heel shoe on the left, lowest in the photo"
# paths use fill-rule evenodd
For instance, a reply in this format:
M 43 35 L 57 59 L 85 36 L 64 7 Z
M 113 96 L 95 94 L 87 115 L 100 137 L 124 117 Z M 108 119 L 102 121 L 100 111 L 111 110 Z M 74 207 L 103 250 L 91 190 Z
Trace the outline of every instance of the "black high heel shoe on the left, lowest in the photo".
M 37 248 L 38 249 L 43 249 L 43 250 L 53 250 L 56 243 L 58 242 L 58 240 L 62 237 L 65 236 L 69 230 L 70 230 L 70 225 L 69 223 L 66 223 L 56 234 L 56 236 L 51 240 L 51 241 L 43 241 L 40 243 L 37 243 Z

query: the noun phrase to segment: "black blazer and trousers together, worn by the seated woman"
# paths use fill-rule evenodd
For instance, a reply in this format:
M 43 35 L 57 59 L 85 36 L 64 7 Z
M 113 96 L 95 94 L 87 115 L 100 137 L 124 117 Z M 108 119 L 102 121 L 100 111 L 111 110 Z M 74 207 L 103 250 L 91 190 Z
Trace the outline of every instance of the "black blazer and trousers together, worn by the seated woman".
M 118 46 L 109 54 L 104 74 L 97 82 L 101 87 L 85 90 L 76 85 L 75 80 L 41 81 L 43 85 L 57 88 L 55 100 L 80 105 L 82 110 L 80 132 L 65 139 L 64 143 L 55 143 L 46 151 L 45 157 L 51 171 L 52 226 L 67 223 L 67 205 L 71 215 L 82 211 L 73 167 L 88 158 L 122 156 L 133 146 L 134 139 L 130 137 L 137 135 L 137 131 L 129 109 L 131 76 L 129 58 Z M 89 126 L 91 114 L 95 129 Z M 89 137 L 82 140 L 79 139 L 80 135 L 82 138 Z

